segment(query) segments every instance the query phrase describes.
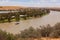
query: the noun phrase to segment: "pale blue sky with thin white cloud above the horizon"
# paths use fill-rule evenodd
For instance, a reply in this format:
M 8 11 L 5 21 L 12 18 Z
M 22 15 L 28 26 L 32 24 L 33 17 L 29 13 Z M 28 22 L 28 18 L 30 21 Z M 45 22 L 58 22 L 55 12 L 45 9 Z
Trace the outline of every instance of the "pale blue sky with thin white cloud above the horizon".
M 0 0 L 0 6 L 60 7 L 60 0 Z

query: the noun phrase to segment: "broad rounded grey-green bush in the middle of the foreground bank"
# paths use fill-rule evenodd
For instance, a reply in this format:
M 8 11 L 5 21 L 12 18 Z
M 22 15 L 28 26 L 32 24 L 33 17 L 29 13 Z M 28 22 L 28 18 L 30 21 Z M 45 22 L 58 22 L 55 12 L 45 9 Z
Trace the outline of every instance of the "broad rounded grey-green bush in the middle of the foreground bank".
M 21 31 L 20 36 L 22 38 L 37 38 L 40 37 L 40 34 L 36 29 L 30 27 L 29 29 L 25 29 L 24 31 Z

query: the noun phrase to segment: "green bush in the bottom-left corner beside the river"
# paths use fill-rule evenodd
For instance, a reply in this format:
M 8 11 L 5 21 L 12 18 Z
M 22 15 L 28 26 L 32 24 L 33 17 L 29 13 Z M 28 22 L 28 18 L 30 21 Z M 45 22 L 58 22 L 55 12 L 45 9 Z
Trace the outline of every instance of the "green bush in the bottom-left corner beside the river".
M 15 40 L 15 36 L 13 34 L 0 30 L 0 40 Z

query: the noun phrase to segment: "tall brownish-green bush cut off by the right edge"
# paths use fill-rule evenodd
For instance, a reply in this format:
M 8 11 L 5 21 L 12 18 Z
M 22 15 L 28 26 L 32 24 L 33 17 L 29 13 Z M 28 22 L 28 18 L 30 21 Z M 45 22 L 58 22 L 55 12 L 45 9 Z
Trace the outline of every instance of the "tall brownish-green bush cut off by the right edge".
M 53 31 L 50 34 L 50 37 L 60 37 L 60 23 L 57 23 L 53 26 Z

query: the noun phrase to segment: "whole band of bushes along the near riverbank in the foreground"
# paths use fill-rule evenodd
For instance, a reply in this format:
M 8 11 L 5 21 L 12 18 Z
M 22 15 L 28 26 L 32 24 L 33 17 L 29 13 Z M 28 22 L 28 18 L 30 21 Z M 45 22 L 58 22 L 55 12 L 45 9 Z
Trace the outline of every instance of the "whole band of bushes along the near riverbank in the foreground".
M 0 30 L 0 40 L 31 40 L 33 38 L 60 38 L 60 23 L 54 26 L 40 26 L 39 28 L 27 28 L 20 31 L 19 34 L 11 34 L 6 31 Z

